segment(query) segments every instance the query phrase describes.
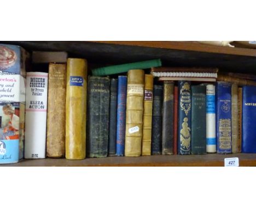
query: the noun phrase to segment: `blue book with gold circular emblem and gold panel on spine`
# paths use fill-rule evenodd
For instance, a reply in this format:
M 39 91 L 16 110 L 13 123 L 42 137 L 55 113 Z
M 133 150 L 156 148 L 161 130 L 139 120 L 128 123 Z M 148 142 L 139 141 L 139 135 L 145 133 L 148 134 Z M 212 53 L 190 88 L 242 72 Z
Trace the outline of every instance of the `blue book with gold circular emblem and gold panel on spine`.
M 216 138 L 217 153 L 229 154 L 231 150 L 231 83 L 216 83 Z

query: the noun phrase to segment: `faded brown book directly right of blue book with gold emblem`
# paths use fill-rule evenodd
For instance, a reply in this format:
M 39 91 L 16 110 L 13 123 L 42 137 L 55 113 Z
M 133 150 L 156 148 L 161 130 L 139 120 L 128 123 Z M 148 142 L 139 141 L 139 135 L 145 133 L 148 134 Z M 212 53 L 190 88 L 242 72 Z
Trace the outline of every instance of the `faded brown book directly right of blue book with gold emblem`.
M 238 101 L 237 101 L 237 96 L 238 96 L 238 86 L 237 84 L 232 84 L 231 86 L 231 115 L 232 115 L 232 153 L 237 153 L 238 146 L 239 146 L 239 140 L 238 140 Z

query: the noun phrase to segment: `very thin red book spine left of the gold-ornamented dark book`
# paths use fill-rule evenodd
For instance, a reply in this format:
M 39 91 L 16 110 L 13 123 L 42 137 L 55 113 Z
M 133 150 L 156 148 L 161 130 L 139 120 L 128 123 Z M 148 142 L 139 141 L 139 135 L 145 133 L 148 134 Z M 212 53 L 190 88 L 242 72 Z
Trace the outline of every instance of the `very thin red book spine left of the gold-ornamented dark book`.
M 173 105 L 173 154 L 177 155 L 178 142 L 178 87 L 174 87 L 174 105 Z

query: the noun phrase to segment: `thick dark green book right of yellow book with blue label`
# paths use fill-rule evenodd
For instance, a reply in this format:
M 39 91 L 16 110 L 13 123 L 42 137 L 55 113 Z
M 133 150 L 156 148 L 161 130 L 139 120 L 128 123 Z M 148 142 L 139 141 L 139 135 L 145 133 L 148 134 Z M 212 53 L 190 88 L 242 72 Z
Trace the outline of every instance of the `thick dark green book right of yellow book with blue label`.
M 108 156 L 109 77 L 89 76 L 88 81 L 88 157 Z

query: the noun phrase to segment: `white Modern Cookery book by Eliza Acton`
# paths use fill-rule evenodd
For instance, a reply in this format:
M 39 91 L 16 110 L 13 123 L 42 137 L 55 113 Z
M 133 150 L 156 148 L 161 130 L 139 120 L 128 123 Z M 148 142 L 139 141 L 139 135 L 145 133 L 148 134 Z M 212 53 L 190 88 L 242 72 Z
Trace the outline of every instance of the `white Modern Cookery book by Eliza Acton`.
M 45 158 L 48 73 L 27 72 L 25 158 Z

